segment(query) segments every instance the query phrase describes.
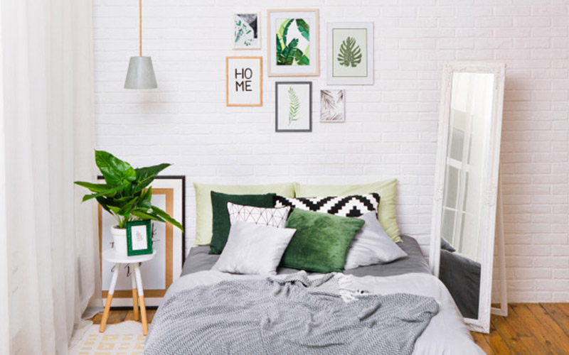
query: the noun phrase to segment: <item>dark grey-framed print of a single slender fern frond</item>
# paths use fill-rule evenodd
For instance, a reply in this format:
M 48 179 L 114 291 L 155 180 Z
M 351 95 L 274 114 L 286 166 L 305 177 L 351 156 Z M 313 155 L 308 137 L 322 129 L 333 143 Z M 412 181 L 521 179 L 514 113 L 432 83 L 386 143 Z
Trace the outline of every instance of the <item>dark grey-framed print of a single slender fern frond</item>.
M 312 131 L 312 82 L 275 82 L 275 131 Z

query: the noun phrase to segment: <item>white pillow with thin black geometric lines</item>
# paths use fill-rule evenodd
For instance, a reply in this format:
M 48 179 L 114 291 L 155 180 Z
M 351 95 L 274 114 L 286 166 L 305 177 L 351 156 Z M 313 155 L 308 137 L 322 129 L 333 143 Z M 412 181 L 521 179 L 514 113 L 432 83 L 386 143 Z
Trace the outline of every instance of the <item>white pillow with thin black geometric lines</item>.
M 231 224 L 235 221 L 242 221 L 254 224 L 264 224 L 265 226 L 275 226 L 285 228 L 289 217 L 290 207 L 262 208 L 243 206 L 243 204 L 227 203 L 227 212 Z

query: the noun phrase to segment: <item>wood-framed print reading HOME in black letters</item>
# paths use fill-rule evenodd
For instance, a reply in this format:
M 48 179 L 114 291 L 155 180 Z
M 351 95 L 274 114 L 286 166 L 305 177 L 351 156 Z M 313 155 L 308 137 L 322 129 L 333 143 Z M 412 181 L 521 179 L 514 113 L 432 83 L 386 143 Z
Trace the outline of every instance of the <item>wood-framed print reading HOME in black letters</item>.
M 225 58 L 227 106 L 262 106 L 262 57 Z

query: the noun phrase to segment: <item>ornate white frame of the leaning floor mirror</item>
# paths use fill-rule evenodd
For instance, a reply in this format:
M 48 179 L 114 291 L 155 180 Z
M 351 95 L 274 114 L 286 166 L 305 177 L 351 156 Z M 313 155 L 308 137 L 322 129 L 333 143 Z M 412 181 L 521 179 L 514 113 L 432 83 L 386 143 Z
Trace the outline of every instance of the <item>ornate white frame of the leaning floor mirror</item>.
M 465 318 L 469 329 L 477 332 L 489 332 L 491 312 L 491 288 L 492 268 L 494 261 L 494 234 L 496 232 L 496 204 L 499 191 L 499 161 L 501 143 L 502 109 L 504 104 L 504 79 L 506 65 L 494 62 L 451 62 L 445 63 L 442 75 L 440 121 L 437 144 L 437 165 L 435 170 L 435 194 L 433 196 L 432 228 L 430 239 L 429 263 L 431 272 L 439 276 L 441 225 L 443 195 L 445 191 L 445 169 L 447 160 L 447 137 L 450 126 L 450 102 L 452 92 L 452 74 L 454 72 L 477 72 L 494 74 L 493 99 L 491 109 L 491 124 L 489 131 L 489 147 L 486 150 L 488 156 L 487 166 L 484 169 L 484 207 L 481 213 L 481 280 L 479 293 L 478 319 Z M 501 206 L 500 206 L 501 207 Z M 501 209 L 501 208 L 500 208 Z M 501 211 L 499 211 L 501 212 Z M 501 218 L 501 213 L 500 218 Z M 499 226 L 501 229 L 501 226 Z M 501 233 L 501 230 L 498 231 Z M 499 236 L 499 251 L 503 253 L 503 240 Z M 505 270 L 501 270 L 504 275 Z M 505 280 L 502 280 L 504 284 Z M 502 288 L 503 290 L 504 288 Z M 503 293 L 505 295 L 505 293 Z M 504 304 L 502 305 L 504 307 Z M 504 311 L 504 309 L 502 309 Z M 507 312 L 507 309 L 506 309 Z

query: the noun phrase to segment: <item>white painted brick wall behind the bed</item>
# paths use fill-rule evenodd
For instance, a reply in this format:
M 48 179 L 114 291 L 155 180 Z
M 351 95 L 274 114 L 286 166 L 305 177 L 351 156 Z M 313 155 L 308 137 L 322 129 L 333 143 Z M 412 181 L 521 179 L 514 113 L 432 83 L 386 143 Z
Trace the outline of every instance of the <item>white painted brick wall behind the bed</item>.
M 241 3 L 238 6 L 235 4 Z M 144 53 L 159 89 L 122 89 L 138 53 L 137 1 L 95 0 L 97 146 L 134 165 L 174 163 L 191 182 L 354 183 L 396 177 L 401 230 L 430 233 L 441 68 L 507 63 L 502 172 L 509 299 L 569 301 L 567 0 L 144 1 Z M 321 75 L 312 133 L 275 133 L 274 82 L 263 107 L 225 107 L 225 56 L 262 55 L 266 9 L 320 9 Z M 262 50 L 236 51 L 234 11 L 262 12 Z M 346 89 L 345 124 L 319 123 L 326 21 L 375 23 L 373 86 Z M 191 240 L 188 241 L 191 245 Z

